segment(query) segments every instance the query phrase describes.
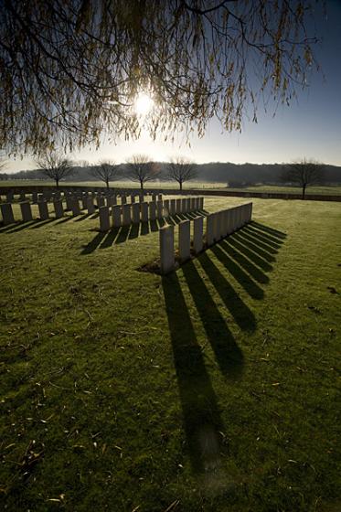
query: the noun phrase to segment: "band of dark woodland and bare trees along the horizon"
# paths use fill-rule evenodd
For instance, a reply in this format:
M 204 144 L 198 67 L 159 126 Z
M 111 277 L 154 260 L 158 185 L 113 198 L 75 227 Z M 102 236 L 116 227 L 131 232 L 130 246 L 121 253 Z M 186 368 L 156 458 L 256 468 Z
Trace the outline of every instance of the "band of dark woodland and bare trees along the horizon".
M 23 170 L 16 173 L 6 173 L 0 168 L 0 179 L 55 179 L 59 181 L 102 181 L 106 186 L 115 181 L 132 180 L 132 182 L 143 183 L 148 181 L 172 180 L 177 182 L 181 189 L 186 181 L 196 179 L 199 182 L 226 183 L 229 187 L 248 187 L 252 185 L 283 185 L 293 183 L 300 185 L 288 175 L 291 166 L 304 163 L 291 164 L 233 164 L 230 162 L 212 162 L 208 164 L 196 164 L 182 156 L 177 156 L 169 163 L 153 162 L 146 155 L 133 155 L 133 157 L 120 165 L 110 160 L 101 161 L 97 164 L 88 162 L 72 163 L 67 158 L 61 158 L 62 165 L 55 168 L 53 159 L 47 156 L 40 160 L 41 165 L 36 169 Z M 309 161 L 310 162 L 310 161 Z M 323 173 L 319 172 L 319 182 L 325 185 L 341 184 L 341 167 L 336 165 L 321 165 L 313 163 L 314 171 L 318 166 Z M 59 162 L 60 164 L 60 162 Z M 64 169 L 64 166 L 66 168 Z M 299 167 L 300 168 L 300 167 Z M 297 174 L 296 170 L 296 174 Z M 323 175 L 323 176 L 322 176 Z

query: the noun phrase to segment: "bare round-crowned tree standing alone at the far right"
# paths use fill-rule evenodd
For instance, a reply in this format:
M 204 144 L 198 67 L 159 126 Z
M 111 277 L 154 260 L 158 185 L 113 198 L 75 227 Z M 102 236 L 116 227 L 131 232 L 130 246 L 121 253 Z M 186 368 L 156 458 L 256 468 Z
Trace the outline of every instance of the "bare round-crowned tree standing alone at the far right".
M 286 165 L 282 172 L 282 181 L 302 187 L 302 198 L 309 185 L 316 185 L 324 180 L 324 165 L 315 160 L 303 158 L 298 162 Z

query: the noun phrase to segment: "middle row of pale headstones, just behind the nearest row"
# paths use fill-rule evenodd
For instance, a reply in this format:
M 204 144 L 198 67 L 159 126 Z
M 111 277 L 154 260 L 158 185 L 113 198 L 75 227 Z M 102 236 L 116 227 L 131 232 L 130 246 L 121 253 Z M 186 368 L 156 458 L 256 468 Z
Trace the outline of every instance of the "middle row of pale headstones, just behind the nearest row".
M 103 206 L 100 212 L 100 230 L 130 226 L 149 220 L 163 219 L 176 214 L 190 213 L 204 209 L 204 197 L 181 197 L 158 201 L 126 203 L 123 205 Z

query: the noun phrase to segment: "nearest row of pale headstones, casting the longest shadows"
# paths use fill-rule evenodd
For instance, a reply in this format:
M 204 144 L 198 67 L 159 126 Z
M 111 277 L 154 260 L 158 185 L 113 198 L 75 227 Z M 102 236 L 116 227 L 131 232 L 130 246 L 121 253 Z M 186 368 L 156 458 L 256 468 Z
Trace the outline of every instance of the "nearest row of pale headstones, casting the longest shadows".
M 204 248 L 212 246 L 237 229 L 242 228 L 252 217 L 252 203 L 239 207 L 223 209 L 211 213 L 206 218 L 206 233 L 204 237 L 204 218 L 193 220 L 193 240 L 191 240 L 191 220 L 178 224 L 178 258 L 180 262 L 190 259 L 191 241 L 193 252 L 198 254 Z M 172 272 L 176 268 L 174 226 L 160 229 L 160 271 L 162 274 Z

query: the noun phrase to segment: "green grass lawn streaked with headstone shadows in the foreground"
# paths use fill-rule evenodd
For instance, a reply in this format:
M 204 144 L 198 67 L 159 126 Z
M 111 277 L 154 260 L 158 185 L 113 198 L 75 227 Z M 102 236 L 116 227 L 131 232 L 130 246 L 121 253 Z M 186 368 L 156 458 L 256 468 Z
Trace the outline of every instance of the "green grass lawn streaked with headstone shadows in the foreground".
M 0 227 L 4 510 L 341 509 L 341 205 L 252 202 L 166 277 L 155 226 Z

